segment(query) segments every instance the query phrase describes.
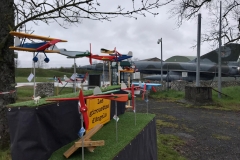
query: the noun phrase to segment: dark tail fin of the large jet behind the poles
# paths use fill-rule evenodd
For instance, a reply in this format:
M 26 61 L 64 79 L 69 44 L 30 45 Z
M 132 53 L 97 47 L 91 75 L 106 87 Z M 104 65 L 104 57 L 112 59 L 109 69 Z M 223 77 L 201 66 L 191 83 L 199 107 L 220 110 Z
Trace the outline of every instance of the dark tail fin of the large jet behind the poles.
M 200 57 L 202 62 L 218 63 L 219 48 L 215 49 Z M 240 44 L 230 43 L 221 47 L 221 59 L 226 63 L 229 61 L 237 61 L 240 55 Z M 196 61 L 196 59 L 195 59 Z

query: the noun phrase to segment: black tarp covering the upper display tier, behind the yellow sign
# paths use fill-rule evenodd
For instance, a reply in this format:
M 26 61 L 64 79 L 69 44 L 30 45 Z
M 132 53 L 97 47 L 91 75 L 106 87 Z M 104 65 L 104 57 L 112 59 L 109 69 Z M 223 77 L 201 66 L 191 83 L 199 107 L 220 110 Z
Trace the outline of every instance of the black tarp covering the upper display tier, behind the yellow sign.
M 125 112 L 125 104 L 117 103 L 118 115 Z M 114 114 L 115 102 L 111 102 L 110 119 Z M 55 150 L 76 140 L 81 128 L 78 101 L 11 107 L 7 118 L 13 160 L 47 160 Z

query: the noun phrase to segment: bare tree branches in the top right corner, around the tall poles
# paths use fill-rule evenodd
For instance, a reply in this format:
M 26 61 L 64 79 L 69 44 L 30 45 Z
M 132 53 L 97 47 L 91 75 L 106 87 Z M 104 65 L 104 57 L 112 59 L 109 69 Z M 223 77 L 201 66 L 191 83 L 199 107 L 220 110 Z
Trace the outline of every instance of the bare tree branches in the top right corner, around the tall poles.
M 177 16 L 178 26 L 184 20 L 196 18 L 202 8 L 208 11 L 209 30 L 202 34 L 203 42 L 218 43 L 219 37 L 219 11 L 220 0 L 177 0 L 171 9 L 172 16 Z M 240 0 L 222 1 L 222 35 L 225 43 L 238 42 L 240 40 Z

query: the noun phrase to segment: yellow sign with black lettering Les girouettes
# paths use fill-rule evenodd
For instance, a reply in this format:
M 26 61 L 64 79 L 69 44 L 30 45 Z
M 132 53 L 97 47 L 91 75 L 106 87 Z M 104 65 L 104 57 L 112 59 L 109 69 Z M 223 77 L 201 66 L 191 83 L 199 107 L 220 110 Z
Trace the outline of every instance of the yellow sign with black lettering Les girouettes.
M 102 98 L 87 99 L 87 107 L 89 118 L 88 130 L 97 124 L 105 124 L 110 121 L 110 100 Z

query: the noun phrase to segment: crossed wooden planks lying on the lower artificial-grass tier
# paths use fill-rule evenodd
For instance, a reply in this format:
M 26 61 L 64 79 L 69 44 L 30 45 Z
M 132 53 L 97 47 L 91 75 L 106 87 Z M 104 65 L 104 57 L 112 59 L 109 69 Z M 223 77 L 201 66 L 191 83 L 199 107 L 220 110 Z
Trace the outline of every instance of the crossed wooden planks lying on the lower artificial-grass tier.
M 91 141 L 91 137 L 97 133 L 103 127 L 102 124 L 96 125 L 90 131 L 88 131 L 82 138 L 80 138 L 77 142 L 75 142 L 72 147 L 70 147 L 63 155 L 68 158 L 71 156 L 78 148 L 82 147 L 82 139 L 84 140 L 83 146 L 87 147 L 90 152 L 93 152 L 97 146 L 103 146 L 105 144 L 104 140 L 99 141 Z

